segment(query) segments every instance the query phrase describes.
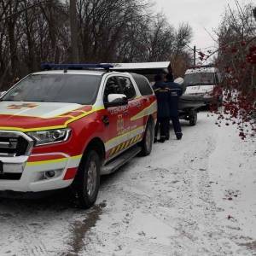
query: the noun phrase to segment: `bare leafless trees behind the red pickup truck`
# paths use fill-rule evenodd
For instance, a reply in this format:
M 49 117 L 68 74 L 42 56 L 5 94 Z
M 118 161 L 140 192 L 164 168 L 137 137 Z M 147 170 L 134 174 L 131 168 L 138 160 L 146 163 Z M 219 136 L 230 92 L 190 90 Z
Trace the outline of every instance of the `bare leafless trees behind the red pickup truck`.
M 0 0 L 0 86 L 45 61 L 168 61 L 178 53 L 187 63 L 190 27 L 176 31 L 148 2 Z

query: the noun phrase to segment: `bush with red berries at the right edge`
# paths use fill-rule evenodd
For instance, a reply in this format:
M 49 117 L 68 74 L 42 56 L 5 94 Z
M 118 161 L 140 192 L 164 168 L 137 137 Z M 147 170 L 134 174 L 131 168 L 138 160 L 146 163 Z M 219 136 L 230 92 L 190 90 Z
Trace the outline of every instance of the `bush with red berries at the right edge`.
M 241 15 L 242 9 L 242 15 Z M 238 6 L 224 15 L 218 30 L 218 49 L 209 55 L 199 52 L 202 62 L 218 54 L 215 66 L 223 81 L 213 91 L 218 98 L 223 91 L 223 106 L 212 105 L 218 114 L 216 125 L 237 125 L 241 139 L 256 133 L 256 21 L 252 5 Z

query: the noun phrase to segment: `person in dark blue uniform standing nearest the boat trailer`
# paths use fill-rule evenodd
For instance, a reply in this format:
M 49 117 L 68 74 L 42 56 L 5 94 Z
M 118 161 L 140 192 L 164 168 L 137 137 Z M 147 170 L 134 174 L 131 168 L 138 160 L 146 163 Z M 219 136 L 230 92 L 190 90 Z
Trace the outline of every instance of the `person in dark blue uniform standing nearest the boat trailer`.
M 178 101 L 179 101 L 179 97 L 183 95 L 183 89 L 179 84 L 173 82 L 172 73 L 168 73 L 166 75 L 166 86 L 170 90 L 170 102 L 169 102 L 170 119 L 172 119 L 172 125 L 175 131 L 177 140 L 180 140 L 183 137 L 183 133 L 182 133 L 181 125 L 179 123 L 179 118 L 178 118 Z M 169 135 L 169 131 L 166 136 L 167 139 L 169 138 L 168 135 Z

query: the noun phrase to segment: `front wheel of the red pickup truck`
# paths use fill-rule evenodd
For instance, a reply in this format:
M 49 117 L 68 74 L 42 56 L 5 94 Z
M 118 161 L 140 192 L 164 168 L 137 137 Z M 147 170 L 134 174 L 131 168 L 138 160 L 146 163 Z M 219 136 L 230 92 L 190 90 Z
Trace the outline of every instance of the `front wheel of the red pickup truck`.
M 79 207 L 87 209 L 94 205 L 100 188 L 101 160 L 95 150 L 84 154 L 79 172 L 74 180 L 74 193 Z

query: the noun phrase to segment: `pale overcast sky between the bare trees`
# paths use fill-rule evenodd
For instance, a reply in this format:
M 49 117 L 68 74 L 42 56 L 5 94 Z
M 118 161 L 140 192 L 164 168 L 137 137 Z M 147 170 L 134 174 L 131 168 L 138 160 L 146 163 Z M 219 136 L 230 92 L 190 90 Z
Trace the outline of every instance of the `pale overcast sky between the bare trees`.
M 250 0 L 238 0 L 239 3 L 252 3 Z M 218 28 L 225 8 L 230 4 L 236 8 L 235 0 L 154 0 L 158 11 L 162 11 L 169 22 L 177 27 L 181 22 L 188 22 L 193 28 L 191 46 L 197 49 L 214 45 L 214 41 L 205 31 L 212 35 L 212 28 Z

